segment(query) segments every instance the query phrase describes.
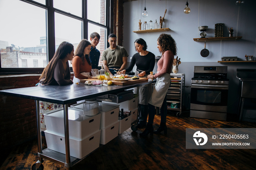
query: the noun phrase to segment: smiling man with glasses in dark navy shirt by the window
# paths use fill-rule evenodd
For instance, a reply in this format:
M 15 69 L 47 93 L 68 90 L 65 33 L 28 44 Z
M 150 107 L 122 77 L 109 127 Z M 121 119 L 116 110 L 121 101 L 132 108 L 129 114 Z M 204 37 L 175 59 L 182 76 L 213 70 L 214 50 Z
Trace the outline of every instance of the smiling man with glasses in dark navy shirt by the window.
M 91 52 L 89 55 L 90 61 L 91 61 L 91 68 L 92 68 L 92 74 L 93 76 L 96 74 L 98 74 L 98 65 L 99 65 L 99 56 L 101 55 L 101 53 L 99 52 L 98 49 L 96 49 L 96 46 L 98 45 L 98 43 L 100 42 L 101 36 L 99 36 L 99 34 L 97 32 L 93 32 L 90 35 L 90 40 L 91 40 Z

